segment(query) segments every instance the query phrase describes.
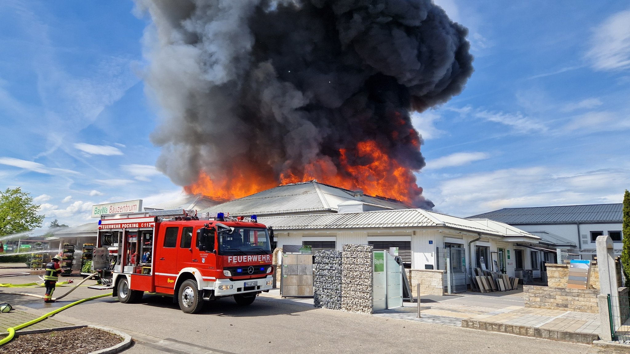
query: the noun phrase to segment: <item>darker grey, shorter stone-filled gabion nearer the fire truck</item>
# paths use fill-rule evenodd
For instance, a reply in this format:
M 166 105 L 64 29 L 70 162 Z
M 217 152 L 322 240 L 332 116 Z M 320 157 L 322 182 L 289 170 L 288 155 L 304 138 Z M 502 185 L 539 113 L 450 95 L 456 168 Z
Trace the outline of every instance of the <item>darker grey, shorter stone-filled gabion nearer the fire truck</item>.
M 315 307 L 341 309 L 340 251 L 320 251 L 315 256 L 313 303 Z

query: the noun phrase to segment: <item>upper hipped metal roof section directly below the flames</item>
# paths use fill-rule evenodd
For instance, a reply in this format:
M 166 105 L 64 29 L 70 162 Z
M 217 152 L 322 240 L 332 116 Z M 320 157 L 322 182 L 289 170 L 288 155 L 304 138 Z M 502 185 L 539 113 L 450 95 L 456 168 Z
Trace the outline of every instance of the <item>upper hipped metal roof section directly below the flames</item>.
M 282 215 L 306 212 L 334 213 L 338 205 L 348 200 L 359 200 L 387 209 L 408 209 L 398 200 L 369 195 L 357 195 L 350 190 L 324 185 L 317 181 L 292 183 L 260 191 L 247 197 L 214 205 L 200 212 L 225 212 L 230 215 Z

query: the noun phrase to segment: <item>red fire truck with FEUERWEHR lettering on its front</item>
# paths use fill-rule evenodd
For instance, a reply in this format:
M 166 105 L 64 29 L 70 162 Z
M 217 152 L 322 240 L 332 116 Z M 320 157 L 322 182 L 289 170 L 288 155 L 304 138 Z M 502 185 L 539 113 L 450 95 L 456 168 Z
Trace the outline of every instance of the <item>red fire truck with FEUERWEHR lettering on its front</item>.
M 256 215 L 214 220 L 195 210 L 101 215 L 93 270 L 124 304 L 144 292 L 173 295 L 194 314 L 203 300 L 251 304 L 273 287 L 270 234 Z M 271 238 L 273 239 L 273 238 Z

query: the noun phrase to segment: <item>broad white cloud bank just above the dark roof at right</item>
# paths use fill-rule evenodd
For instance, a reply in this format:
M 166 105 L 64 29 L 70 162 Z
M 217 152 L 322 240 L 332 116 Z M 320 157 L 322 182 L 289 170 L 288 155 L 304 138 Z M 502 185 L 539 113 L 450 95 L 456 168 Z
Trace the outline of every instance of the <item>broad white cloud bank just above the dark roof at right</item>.
M 458 176 L 425 194 L 440 212 L 467 217 L 507 207 L 621 203 L 628 185 L 630 169 L 535 166 Z

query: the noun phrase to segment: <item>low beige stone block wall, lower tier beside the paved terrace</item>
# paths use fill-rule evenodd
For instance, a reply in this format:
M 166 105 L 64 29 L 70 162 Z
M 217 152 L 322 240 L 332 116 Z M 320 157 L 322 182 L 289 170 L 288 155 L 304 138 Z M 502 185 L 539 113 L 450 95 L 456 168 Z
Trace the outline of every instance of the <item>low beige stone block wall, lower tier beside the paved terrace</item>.
M 597 289 L 570 289 L 523 285 L 525 307 L 599 313 Z

